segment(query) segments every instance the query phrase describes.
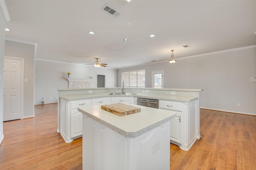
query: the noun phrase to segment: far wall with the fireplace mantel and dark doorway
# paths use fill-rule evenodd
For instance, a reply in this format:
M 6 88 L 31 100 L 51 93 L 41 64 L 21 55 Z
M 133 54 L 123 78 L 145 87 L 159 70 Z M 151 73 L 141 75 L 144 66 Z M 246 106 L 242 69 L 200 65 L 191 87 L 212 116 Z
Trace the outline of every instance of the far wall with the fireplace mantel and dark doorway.
M 68 88 L 67 72 L 70 78 L 93 77 L 92 88 L 96 88 L 96 74 L 106 75 L 106 87 L 117 86 L 117 70 L 111 68 L 96 68 L 84 64 L 61 63 L 36 59 L 35 62 L 35 104 L 58 102 L 57 89 Z M 50 97 L 52 99 L 50 99 Z

